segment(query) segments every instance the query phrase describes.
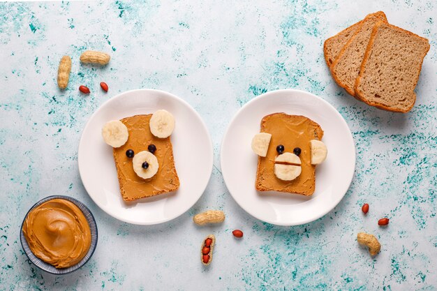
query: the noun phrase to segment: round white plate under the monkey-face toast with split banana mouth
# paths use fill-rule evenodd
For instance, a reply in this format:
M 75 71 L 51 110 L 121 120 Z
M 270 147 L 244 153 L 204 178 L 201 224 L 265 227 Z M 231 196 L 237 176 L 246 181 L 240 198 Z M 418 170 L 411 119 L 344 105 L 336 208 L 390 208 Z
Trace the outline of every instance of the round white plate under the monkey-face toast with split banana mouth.
M 304 115 L 324 130 L 328 155 L 316 167 L 316 191 L 311 196 L 255 190 L 258 156 L 253 135 L 267 114 Z M 348 191 L 355 170 L 355 143 L 346 121 L 322 98 L 299 90 L 262 94 L 244 105 L 230 121 L 221 144 L 221 171 L 235 201 L 255 218 L 276 225 L 300 225 L 331 211 Z

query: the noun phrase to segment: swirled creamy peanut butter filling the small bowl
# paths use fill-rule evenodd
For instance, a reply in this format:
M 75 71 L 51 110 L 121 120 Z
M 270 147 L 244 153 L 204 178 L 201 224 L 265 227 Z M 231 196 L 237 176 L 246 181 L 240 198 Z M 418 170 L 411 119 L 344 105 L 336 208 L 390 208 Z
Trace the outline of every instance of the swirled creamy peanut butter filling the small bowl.
M 24 237 L 32 253 L 56 268 L 71 267 L 91 246 L 87 218 L 72 202 L 53 199 L 27 214 Z

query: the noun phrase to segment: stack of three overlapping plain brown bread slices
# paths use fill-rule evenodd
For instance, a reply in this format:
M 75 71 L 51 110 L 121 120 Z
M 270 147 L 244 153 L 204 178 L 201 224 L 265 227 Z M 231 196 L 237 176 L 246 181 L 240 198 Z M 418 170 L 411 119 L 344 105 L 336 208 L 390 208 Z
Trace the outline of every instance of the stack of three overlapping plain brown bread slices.
M 395 27 L 382 11 L 325 40 L 332 77 L 350 95 L 392 112 L 413 108 L 415 86 L 429 51 L 426 38 Z

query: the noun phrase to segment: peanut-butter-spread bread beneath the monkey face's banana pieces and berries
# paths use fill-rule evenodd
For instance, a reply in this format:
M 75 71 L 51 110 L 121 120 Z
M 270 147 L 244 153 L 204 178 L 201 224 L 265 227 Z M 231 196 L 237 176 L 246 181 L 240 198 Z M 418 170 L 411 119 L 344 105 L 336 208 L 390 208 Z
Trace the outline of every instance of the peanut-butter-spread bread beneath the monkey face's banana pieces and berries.
M 256 190 L 312 195 L 316 190 L 316 165 L 311 165 L 310 140 L 321 140 L 322 128 L 307 117 L 274 113 L 262 118 L 260 132 L 270 133 L 272 138 L 267 156 L 258 156 Z M 292 181 L 283 181 L 274 174 L 274 159 L 279 144 L 285 147 L 286 152 L 293 152 L 295 147 L 302 150 L 299 155 L 302 172 Z

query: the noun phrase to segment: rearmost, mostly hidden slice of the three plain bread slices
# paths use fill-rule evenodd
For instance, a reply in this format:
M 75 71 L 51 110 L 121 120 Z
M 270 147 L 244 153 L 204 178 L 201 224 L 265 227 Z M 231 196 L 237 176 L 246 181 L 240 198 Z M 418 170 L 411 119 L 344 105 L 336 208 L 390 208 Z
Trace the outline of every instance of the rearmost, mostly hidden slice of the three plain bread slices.
M 362 20 L 325 40 L 325 43 L 323 44 L 323 54 L 325 55 L 325 61 L 328 68 L 334 64 L 341 49 L 346 45 L 346 43 L 348 43 L 348 40 L 350 40 L 357 30 L 360 29 L 361 24 Z

